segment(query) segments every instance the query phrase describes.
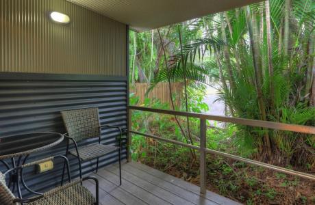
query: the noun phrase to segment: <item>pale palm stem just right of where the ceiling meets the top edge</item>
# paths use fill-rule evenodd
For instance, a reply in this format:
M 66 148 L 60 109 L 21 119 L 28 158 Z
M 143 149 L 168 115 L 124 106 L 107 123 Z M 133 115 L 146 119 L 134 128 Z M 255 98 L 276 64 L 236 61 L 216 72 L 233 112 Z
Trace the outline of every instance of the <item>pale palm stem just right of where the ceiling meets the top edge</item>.
M 267 51 L 268 51 L 268 70 L 269 70 L 269 92 L 270 92 L 270 109 L 275 109 L 275 91 L 273 85 L 273 44 L 271 43 L 271 25 L 270 25 L 270 4 L 269 0 L 265 1 L 266 7 L 266 34 L 267 34 Z

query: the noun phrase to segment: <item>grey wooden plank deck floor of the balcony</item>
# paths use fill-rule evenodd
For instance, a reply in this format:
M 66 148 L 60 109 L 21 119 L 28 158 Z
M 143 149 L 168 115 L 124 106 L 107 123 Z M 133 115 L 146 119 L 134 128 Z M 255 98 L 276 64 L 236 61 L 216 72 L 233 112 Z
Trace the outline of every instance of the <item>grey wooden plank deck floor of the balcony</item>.
M 118 186 L 117 165 L 92 174 L 99 179 L 99 201 L 107 204 L 238 204 L 211 191 L 202 197 L 199 187 L 140 163 L 122 165 L 122 185 Z M 91 181 L 84 183 L 95 193 Z

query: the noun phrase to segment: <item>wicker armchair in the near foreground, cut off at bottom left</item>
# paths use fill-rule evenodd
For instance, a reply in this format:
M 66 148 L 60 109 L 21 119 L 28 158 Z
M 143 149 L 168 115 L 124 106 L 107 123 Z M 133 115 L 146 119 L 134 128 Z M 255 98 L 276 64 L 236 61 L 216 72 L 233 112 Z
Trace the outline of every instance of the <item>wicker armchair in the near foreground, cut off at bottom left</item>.
M 66 161 L 66 165 L 68 168 L 68 159 L 65 156 L 52 156 L 47 159 L 42 159 L 39 161 L 34 161 L 31 163 L 27 163 L 20 167 L 15 167 L 4 174 L 0 172 L 0 204 L 1 205 L 12 205 L 12 204 L 27 204 L 27 205 L 92 205 L 99 204 L 99 182 L 95 177 L 86 177 L 79 180 L 71 181 L 70 170 L 68 169 L 68 179 L 69 182 L 67 184 L 62 185 L 61 187 L 55 187 L 45 193 L 38 193 L 29 189 L 29 187 L 25 186 L 25 189 L 30 193 L 36 194 L 34 197 L 29 198 L 18 198 L 15 197 L 14 194 L 7 187 L 5 182 L 6 174 L 10 174 L 10 172 L 17 171 L 20 169 L 24 169 L 26 167 L 31 167 L 34 165 L 38 165 L 39 163 L 43 163 L 46 161 L 52 161 L 54 158 L 60 157 Z M 96 199 L 93 197 L 92 193 L 81 185 L 81 182 L 84 180 L 92 179 L 95 180 L 95 188 L 96 188 Z M 21 178 L 20 178 L 21 180 Z

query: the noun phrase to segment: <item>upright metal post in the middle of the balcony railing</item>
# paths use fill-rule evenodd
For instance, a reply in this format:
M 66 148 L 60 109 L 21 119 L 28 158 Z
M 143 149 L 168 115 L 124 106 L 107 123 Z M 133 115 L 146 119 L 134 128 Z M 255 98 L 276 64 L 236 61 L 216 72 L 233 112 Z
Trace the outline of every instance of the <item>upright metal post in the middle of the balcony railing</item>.
M 200 193 L 206 193 L 207 170 L 205 163 L 207 120 L 200 119 Z

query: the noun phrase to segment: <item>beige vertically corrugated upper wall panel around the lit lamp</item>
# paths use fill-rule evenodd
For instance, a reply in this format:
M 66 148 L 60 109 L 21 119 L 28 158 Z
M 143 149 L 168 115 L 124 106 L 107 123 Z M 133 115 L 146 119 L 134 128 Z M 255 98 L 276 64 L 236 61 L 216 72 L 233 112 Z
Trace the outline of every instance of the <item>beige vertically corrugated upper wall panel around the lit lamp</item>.
M 125 76 L 125 36 L 124 24 L 66 0 L 0 0 L 0 72 Z

